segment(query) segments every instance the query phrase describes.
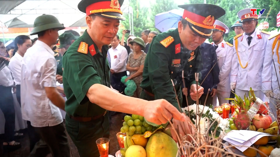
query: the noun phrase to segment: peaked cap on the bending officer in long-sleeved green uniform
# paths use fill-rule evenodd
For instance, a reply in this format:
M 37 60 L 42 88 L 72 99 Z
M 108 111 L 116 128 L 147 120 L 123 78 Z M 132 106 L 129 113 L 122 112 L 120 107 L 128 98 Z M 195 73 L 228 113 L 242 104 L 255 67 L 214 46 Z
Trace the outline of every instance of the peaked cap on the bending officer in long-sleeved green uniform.
M 225 15 L 225 10 L 213 4 L 185 4 L 183 18 L 188 21 L 190 29 L 202 38 L 211 38 L 215 20 Z

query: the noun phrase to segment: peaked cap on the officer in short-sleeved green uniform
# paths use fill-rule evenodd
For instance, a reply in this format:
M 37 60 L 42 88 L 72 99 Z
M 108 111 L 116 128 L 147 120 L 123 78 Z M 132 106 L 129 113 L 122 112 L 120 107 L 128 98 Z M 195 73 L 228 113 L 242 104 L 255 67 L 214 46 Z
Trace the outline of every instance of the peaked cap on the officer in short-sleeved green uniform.
M 125 20 L 122 17 L 122 6 L 124 0 L 82 0 L 78 9 L 86 15 L 95 14 L 110 19 Z

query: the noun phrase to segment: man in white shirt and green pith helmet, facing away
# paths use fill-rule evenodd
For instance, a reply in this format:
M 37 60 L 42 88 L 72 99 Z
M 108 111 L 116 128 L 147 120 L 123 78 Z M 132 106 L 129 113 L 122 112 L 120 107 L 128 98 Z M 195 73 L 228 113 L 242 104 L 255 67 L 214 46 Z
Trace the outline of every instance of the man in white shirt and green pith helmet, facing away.
M 50 48 L 56 44 L 58 31 L 62 29 L 64 26 L 52 15 L 37 17 L 30 35 L 37 34 L 38 40 L 22 60 L 22 118 L 30 121 L 40 135 L 30 157 L 46 156 L 49 151 L 54 157 L 70 156 L 59 110 L 64 110 L 65 101 L 56 89 L 57 64 Z

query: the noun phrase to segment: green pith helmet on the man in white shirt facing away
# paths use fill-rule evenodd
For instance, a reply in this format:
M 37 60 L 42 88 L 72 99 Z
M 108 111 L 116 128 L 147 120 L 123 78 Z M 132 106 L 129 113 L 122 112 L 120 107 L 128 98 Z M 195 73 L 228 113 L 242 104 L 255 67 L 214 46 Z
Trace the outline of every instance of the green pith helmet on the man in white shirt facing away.
M 30 35 L 35 35 L 48 29 L 59 28 L 62 30 L 65 28 L 63 24 L 60 24 L 58 19 L 53 15 L 41 15 L 37 17 L 33 26 L 34 29 L 31 31 Z

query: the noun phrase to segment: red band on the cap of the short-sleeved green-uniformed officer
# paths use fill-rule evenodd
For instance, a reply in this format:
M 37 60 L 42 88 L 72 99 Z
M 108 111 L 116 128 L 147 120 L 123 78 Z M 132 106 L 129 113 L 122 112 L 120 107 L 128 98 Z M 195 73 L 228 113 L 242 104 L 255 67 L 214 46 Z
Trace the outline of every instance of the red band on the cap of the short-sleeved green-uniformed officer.
M 86 14 L 91 15 L 94 13 L 104 13 L 104 12 L 115 12 L 120 13 L 122 15 L 122 11 L 120 11 L 120 4 L 118 0 L 112 1 L 102 1 L 93 3 L 86 7 Z

